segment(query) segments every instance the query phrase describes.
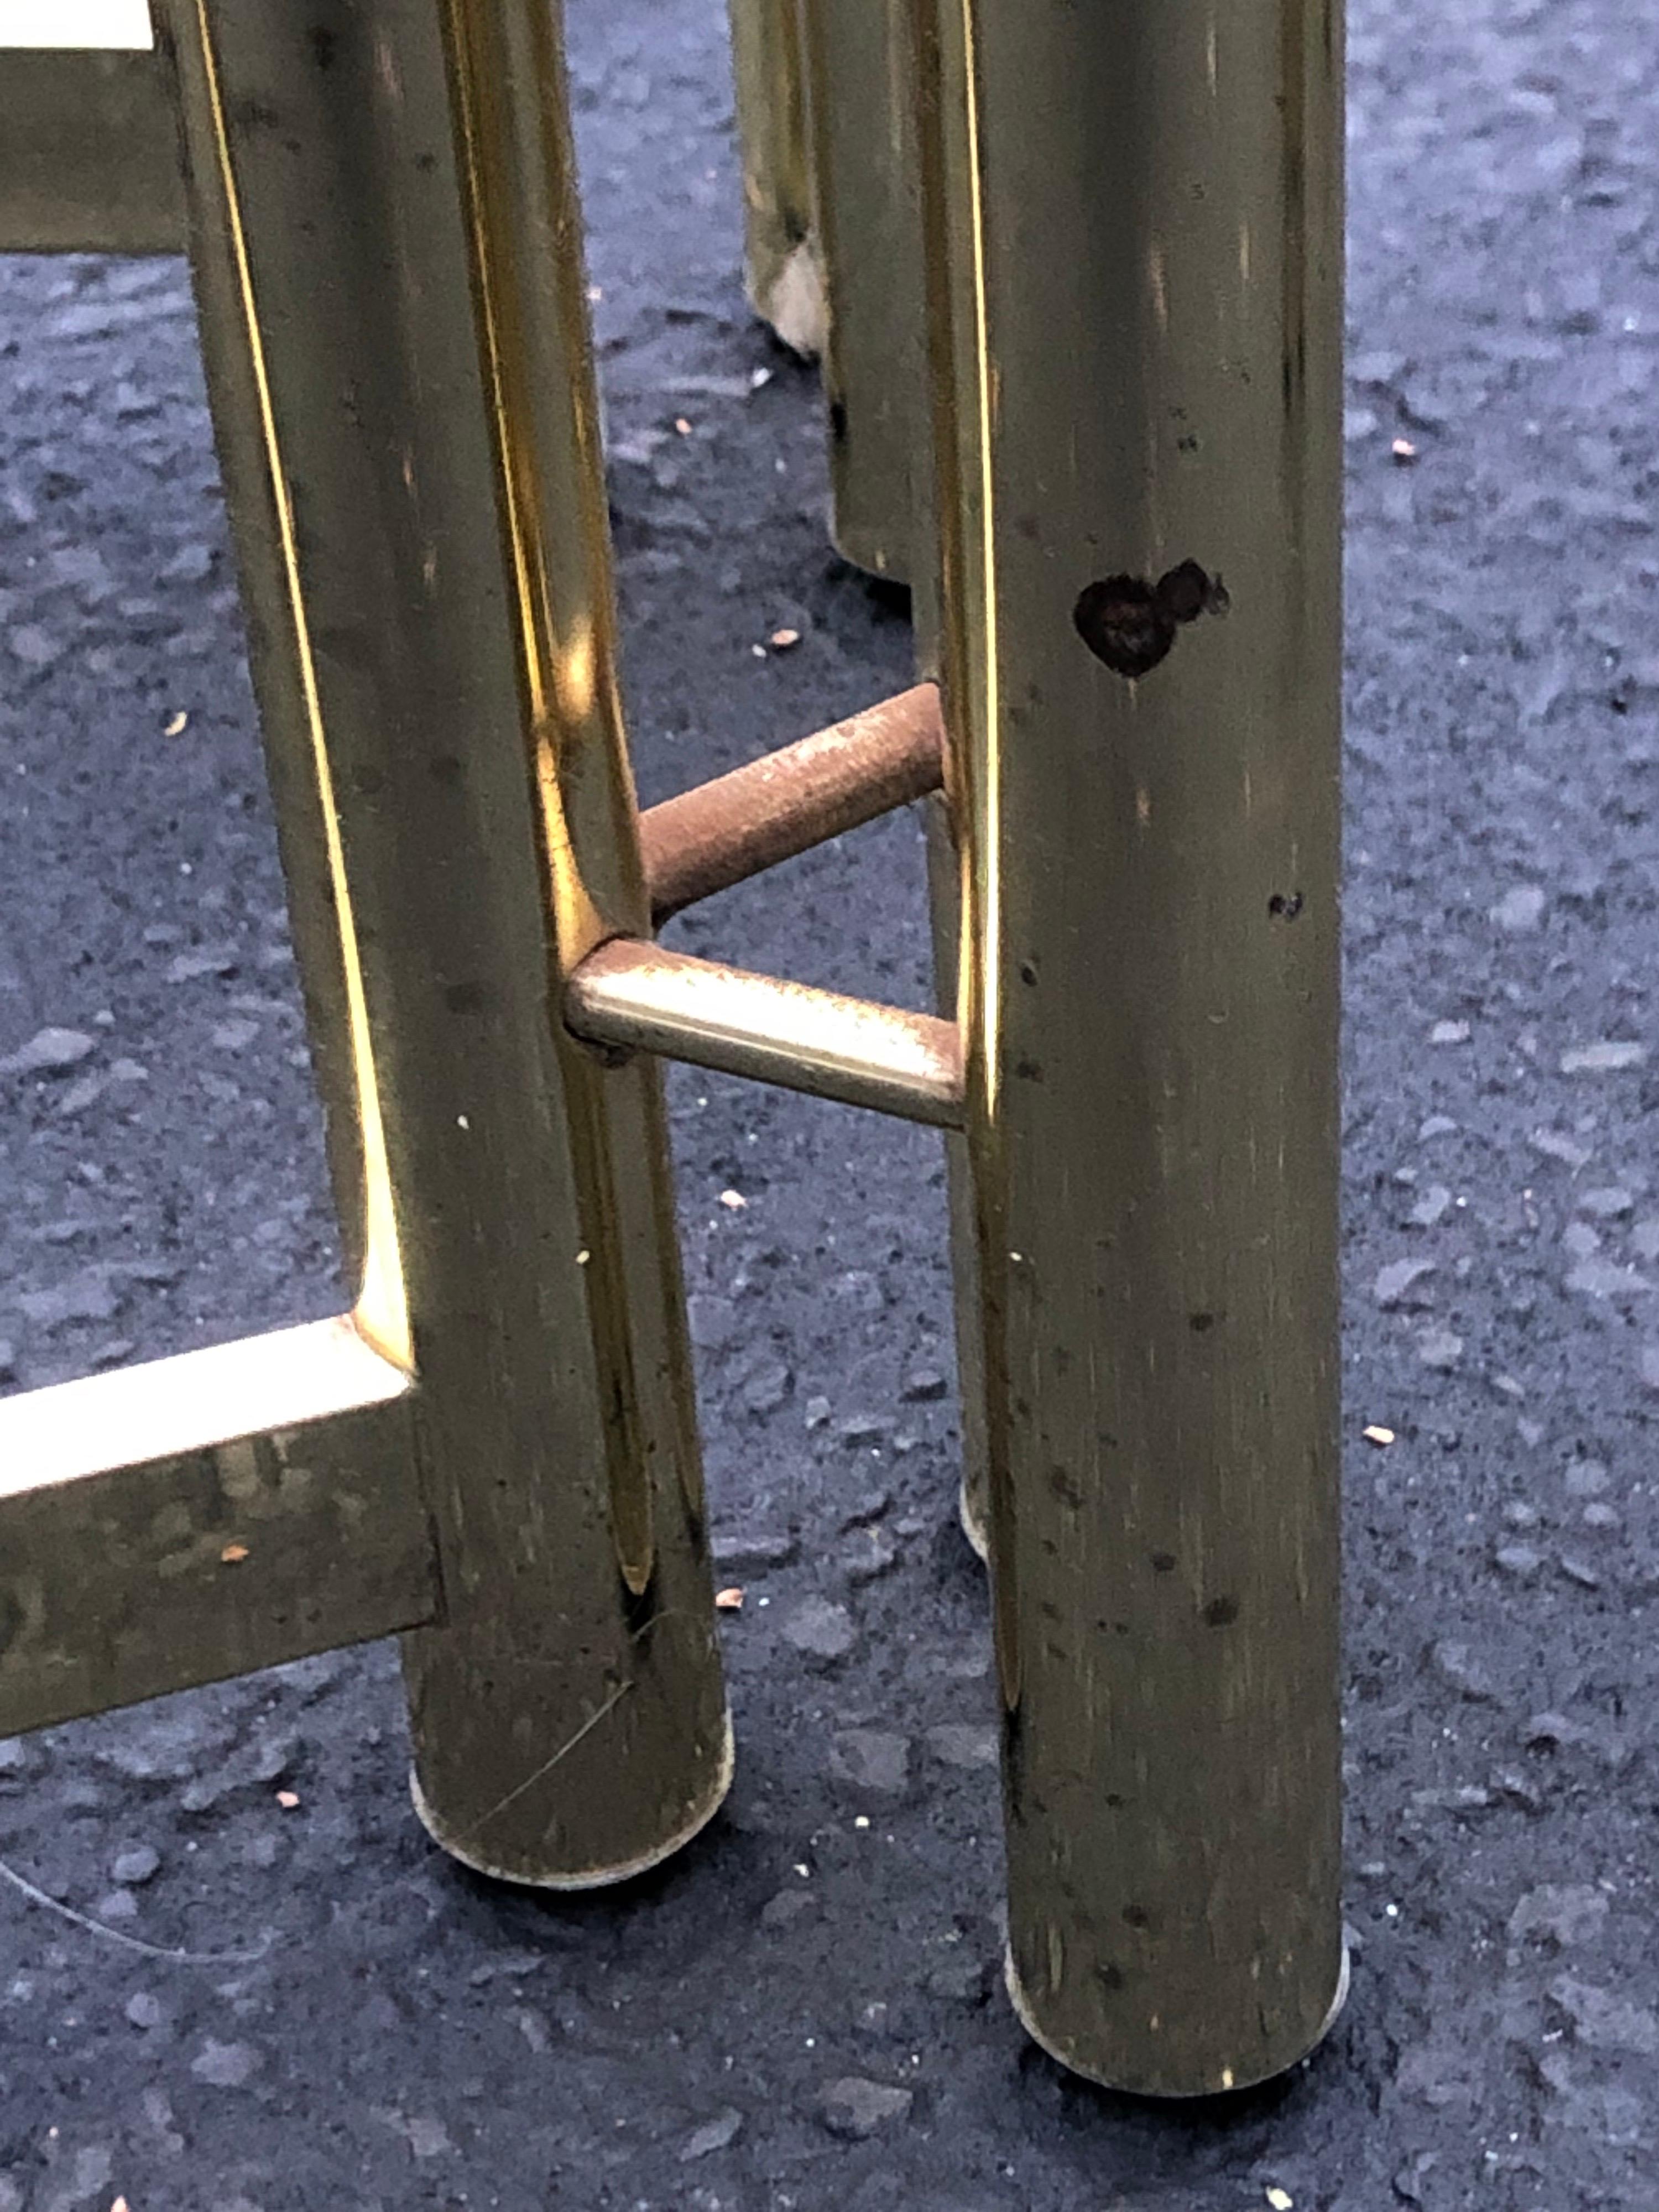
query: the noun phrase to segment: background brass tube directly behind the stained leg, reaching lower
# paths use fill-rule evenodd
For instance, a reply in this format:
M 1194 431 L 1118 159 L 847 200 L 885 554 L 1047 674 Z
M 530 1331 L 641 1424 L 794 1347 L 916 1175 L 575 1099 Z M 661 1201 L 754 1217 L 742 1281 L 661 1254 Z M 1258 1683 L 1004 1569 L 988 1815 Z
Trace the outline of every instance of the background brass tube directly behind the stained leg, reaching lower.
M 925 436 L 922 270 L 905 13 L 801 0 L 812 228 L 825 283 L 830 533 L 909 582 L 911 447 Z

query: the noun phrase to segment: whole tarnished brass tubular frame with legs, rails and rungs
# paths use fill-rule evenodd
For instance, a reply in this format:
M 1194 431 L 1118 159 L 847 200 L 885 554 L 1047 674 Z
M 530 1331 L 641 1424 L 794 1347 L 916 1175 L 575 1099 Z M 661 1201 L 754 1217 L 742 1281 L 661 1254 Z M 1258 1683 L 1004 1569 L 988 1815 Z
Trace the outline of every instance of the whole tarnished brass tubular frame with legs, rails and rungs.
M 734 9 L 776 77 L 752 276 L 768 175 L 785 259 L 814 190 L 858 228 L 841 7 Z M 60 199 L 4 139 L 0 246 L 188 217 L 361 1292 L 0 1405 L 0 1730 L 403 1630 L 445 1849 L 546 1887 L 677 1849 L 732 1736 L 657 1060 L 865 1104 L 953 1144 L 1011 1997 L 1119 2088 L 1283 2070 L 1347 1982 L 1332 0 L 891 11 L 922 681 L 644 818 L 555 11 L 155 24 L 35 73 L 126 122 Z M 653 942 L 922 796 L 945 1013 Z

